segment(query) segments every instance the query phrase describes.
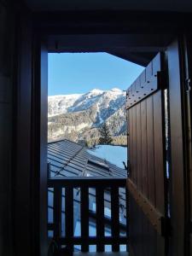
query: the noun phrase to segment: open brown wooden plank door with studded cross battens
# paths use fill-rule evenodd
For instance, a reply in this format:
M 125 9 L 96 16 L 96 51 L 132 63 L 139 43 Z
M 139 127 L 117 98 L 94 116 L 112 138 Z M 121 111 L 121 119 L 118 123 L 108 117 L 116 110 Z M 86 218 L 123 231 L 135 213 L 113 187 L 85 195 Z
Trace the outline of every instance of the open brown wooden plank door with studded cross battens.
M 127 90 L 129 251 L 166 255 L 166 125 L 164 55 Z

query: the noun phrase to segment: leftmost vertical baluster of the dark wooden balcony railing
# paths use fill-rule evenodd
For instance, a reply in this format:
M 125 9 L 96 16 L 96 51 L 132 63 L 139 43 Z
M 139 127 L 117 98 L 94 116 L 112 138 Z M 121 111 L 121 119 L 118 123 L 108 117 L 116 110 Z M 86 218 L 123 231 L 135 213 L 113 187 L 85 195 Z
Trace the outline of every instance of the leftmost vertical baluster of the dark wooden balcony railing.
M 55 241 L 59 244 L 59 239 L 61 237 L 61 187 L 54 187 L 54 237 Z

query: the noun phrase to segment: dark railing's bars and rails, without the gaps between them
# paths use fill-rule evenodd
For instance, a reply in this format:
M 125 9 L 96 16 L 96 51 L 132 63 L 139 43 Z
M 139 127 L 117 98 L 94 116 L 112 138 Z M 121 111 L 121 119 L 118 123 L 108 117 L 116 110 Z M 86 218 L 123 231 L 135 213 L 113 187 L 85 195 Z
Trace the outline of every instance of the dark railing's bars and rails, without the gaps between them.
M 107 188 L 109 187 L 111 191 L 110 196 L 107 196 L 107 194 L 105 195 L 105 189 L 107 189 L 106 184 Z M 93 178 L 93 180 L 90 178 L 86 181 L 82 181 L 82 179 L 79 178 L 78 182 L 76 179 L 74 179 L 74 183 L 71 180 L 66 179 L 66 181 L 63 180 L 62 183 L 60 179 L 53 180 L 49 178 L 49 188 L 54 189 L 54 223 L 52 224 L 51 229 L 54 230 L 54 239 L 58 243 L 58 248 L 60 252 L 72 253 L 74 245 L 81 245 L 81 251 L 84 253 L 89 252 L 90 245 L 96 245 L 97 252 L 104 252 L 105 245 L 112 245 L 112 251 L 119 252 L 120 244 L 127 243 L 125 237 L 121 237 L 119 232 L 121 226 L 119 223 L 119 187 L 125 188 L 125 180 L 122 180 L 122 183 L 119 183 L 118 179 L 117 183 L 115 183 L 115 180 L 112 180 L 112 183 L 110 184 L 110 180 L 108 180 L 108 182 L 103 182 L 103 180 L 101 179 L 101 183 L 98 183 L 97 180 L 95 183 L 95 178 Z M 63 207 L 61 200 L 62 188 L 65 188 L 65 237 L 61 236 L 61 207 Z M 81 235 L 79 237 L 74 237 L 74 188 L 80 188 Z M 92 188 L 92 190 L 96 189 L 96 215 L 95 212 L 90 212 L 89 210 L 89 188 Z M 92 191 L 92 194 L 90 195 L 92 198 L 91 202 L 94 203 L 95 193 L 93 193 Z M 106 199 L 106 207 L 111 207 L 111 221 L 109 218 L 105 218 L 104 199 Z M 125 199 L 127 217 L 127 190 Z M 96 237 L 89 236 L 90 218 L 96 219 Z M 111 237 L 105 237 L 105 227 L 108 228 L 108 226 L 110 225 L 112 233 Z M 126 223 L 126 226 L 122 226 L 122 230 L 125 229 L 127 237 L 128 221 Z M 67 250 L 62 249 L 61 245 L 66 245 Z

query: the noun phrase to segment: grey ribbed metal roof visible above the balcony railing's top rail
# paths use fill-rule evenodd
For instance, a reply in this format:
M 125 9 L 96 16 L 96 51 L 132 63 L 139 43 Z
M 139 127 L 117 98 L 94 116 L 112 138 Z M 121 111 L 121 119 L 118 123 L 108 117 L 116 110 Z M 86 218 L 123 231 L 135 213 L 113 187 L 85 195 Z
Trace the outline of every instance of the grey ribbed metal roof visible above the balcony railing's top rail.
M 126 171 L 88 153 L 78 143 L 62 140 L 48 143 L 50 177 L 126 177 Z

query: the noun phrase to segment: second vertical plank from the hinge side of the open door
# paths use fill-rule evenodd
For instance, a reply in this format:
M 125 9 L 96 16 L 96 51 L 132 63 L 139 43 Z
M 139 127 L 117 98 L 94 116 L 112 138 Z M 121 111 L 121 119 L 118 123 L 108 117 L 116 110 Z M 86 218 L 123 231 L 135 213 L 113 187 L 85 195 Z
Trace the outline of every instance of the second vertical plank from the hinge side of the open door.
M 153 96 L 147 99 L 147 143 L 148 143 L 148 200 L 155 206 L 154 180 L 154 105 Z

